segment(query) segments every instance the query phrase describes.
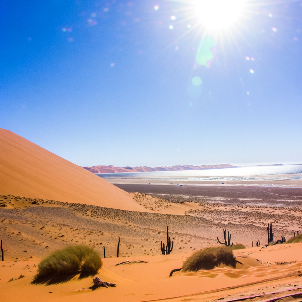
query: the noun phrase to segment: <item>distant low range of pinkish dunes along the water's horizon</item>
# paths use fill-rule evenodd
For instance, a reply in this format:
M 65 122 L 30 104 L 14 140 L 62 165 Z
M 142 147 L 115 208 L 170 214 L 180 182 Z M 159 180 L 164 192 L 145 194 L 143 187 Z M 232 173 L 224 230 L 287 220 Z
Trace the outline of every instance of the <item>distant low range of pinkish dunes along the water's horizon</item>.
M 230 164 L 220 164 L 220 165 L 202 165 L 202 166 L 172 166 L 172 167 L 114 167 L 110 166 L 92 166 L 83 167 L 84 169 L 94 173 L 122 173 L 122 172 L 152 172 L 152 171 L 183 171 L 183 170 L 202 170 L 202 169 L 221 169 L 221 168 L 235 168 L 236 166 Z

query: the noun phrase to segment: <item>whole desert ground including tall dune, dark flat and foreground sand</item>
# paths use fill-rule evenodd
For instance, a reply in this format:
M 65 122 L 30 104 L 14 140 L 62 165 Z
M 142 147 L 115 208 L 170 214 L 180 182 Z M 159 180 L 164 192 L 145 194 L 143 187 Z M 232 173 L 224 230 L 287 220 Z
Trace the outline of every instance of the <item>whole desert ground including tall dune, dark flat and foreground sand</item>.
M 275 240 L 301 231 L 301 189 L 215 186 L 201 192 L 194 186 L 132 185 L 126 192 L 14 133 L 1 130 L 0 134 L 2 300 L 302 298 L 302 243 L 265 247 L 268 223 Z M 170 255 L 162 255 L 160 242 L 166 242 L 167 225 L 174 247 Z M 217 237 L 223 240 L 224 228 L 234 244 L 247 247 L 233 251 L 241 262 L 236 268 L 220 265 L 169 277 L 195 251 L 220 246 Z M 93 290 L 92 275 L 39 277 L 41 259 L 77 244 L 94 247 L 102 257 L 105 247 L 103 267 L 96 276 L 116 287 Z M 125 261 L 130 263 L 117 265 Z

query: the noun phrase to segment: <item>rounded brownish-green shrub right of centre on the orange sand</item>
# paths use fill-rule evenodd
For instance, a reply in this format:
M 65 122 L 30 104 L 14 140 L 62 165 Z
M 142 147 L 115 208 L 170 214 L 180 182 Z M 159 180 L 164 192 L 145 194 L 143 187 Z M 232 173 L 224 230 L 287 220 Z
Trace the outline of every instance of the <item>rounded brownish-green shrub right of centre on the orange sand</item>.
M 225 264 L 236 267 L 235 257 L 230 247 L 207 247 L 195 252 L 182 265 L 182 271 L 199 271 L 200 269 L 213 269 L 215 266 Z

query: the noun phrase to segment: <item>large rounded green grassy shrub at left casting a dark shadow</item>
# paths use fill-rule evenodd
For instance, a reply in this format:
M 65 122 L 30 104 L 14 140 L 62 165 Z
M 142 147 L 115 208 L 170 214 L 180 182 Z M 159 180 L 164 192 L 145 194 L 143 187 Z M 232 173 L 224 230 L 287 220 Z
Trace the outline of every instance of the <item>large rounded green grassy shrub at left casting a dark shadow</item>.
M 72 274 L 79 271 L 96 273 L 102 267 L 99 253 L 84 245 L 56 250 L 38 264 L 40 275 Z

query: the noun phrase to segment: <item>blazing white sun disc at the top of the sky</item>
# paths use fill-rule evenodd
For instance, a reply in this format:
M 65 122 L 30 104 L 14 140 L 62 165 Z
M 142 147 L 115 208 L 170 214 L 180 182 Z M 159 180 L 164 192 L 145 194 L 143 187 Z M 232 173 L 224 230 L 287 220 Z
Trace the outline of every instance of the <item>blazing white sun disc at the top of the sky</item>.
M 210 30 L 227 29 L 243 13 L 244 0 L 196 0 L 196 14 Z

